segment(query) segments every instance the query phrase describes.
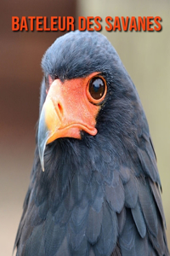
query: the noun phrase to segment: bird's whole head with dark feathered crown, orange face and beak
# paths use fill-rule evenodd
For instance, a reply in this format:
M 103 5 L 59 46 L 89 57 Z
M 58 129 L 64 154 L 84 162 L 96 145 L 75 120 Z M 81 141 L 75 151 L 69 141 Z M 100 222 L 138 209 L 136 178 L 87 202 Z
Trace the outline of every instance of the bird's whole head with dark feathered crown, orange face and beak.
M 65 34 L 43 56 L 42 69 L 38 126 L 42 170 L 46 145 L 60 137 L 104 136 L 103 142 L 108 137 L 115 147 L 127 137 L 130 144 L 128 138 L 139 129 L 134 119 L 143 110 L 132 80 L 105 36 Z

